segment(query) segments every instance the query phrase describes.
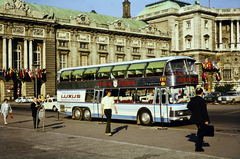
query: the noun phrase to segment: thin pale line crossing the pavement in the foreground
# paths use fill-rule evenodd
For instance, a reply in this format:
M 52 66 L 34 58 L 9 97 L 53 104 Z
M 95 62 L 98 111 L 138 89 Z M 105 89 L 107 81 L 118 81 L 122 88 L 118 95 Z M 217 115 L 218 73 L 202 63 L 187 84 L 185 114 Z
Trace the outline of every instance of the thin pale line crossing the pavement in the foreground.
M 22 129 L 22 130 L 27 130 L 27 131 L 36 131 L 33 129 L 28 129 L 28 128 L 19 128 L 19 127 L 9 127 L 9 126 L 2 126 L 0 127 L 5 127 L 9 129 Z M 121 141 L 114 141 L 114 140 L 105 140 L 105 139 L 98 139 L 98 138 L 93 138 L 93 137 L 86 137 L 86 136 L 78 136 L 78 135 L 70 135 L 70 134 L 61 134 L 61 133 L 56 133 L 56 132 L 46 132 L 49 134 L 54 134 L 54 135 L 61 135 L 61 136 L 67 136 L 67 137 L 75 137 L 75 138 L 82 138 L 82 139 L 88 139 L 88 140 L 95 140 L 95 141 L 101 141 L 101 142 L 109 142 L 109 143 L 115 143 L 115 144 L 122 144 L 122 145 L 129 145 L 129 146 L 137 146 L 137 147 L 143 147 L 143 148 L 149 148 L 149 149 L 156 149 L 156 150 L 162 150 L 162 151 L 173 151 L 173 152 L 179 152 L 179 153 L 186 153 L 186 154 L 191 154 L 191 155 L 197 155 L 197 156 L 202 156 L 202 157 L 211 157 L 211 158 L 219 158 L 223 159 L 224 157 L 218 157 L 218 156 L 212 156 L 212 155 L 206 155 L 206 154 L 199 154 L 199 153 L 194 153 L 194 152 L 187 152 L 187 151 L 181 151 L 181 150 L 173 150 L 173 149 L 168 149 L 168 148 L 161 148 L 161 147 L 154 147 L 154 146 L 148 146 L 148 145 L 139 145 L 139 144 L 134 144 L 134 143 L 128 143 L 128 142 L 121 142 Z M 224 158 L 226 159 L 226 158 Z

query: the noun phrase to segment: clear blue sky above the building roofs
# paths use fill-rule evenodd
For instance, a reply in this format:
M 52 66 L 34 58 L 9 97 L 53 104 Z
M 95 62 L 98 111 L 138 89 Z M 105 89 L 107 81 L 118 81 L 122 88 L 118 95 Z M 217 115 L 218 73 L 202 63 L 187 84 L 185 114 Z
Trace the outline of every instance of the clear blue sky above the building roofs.
M 98 14 L 122 17 L 124 0 L 25 0 L 25 2 L 41 5 L 60 7 L 83 12 L 95 10 Z M 159 2 L 161 0 L 129 0 L 131 2 L 131 16 L 135 17 L 147 4 Z M 180 0 L 194 4 L 195 0 Z M 240 0 L 199 0 L 200 5 L 214 8 L 240 8 Z

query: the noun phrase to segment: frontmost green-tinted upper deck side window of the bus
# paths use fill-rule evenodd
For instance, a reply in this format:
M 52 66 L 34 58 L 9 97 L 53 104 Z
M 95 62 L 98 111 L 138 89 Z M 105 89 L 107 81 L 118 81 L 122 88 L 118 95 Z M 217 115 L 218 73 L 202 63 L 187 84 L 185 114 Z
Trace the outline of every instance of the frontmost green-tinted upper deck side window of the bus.
M 166 61 L 150 62 L 146 69 L 146 76 L 162 76 Z

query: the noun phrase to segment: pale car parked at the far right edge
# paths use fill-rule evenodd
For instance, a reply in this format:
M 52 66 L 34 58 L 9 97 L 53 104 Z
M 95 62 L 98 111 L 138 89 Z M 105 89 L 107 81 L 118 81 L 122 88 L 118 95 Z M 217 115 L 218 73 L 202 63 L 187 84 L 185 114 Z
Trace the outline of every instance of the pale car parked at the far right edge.
M 240 92 L 239 91 L 228 91 L 224 96 L 218 97 L 218 101 L 222 104 L 240 102 Z

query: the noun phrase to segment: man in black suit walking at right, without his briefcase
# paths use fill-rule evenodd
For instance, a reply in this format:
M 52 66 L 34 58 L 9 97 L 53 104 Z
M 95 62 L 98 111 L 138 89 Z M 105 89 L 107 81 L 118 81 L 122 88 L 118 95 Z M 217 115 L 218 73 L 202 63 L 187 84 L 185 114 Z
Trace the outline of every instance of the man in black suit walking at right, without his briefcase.
M 202 148 L 203 143 L 203 127 L 204 124 L 208 125 L 210 123 L 207 106 L 205 104 L 205 100 L 202 98 L 203 90 L 202 88 L 197 88 L 196 97 L 193 97 L 191 101 L 188 103 L 187 107 L 192 111 L 192 116 L 190 121 L 197 125 L 198 128 L 198 138 L 196 143 L 195 151 L 204 151 Z

